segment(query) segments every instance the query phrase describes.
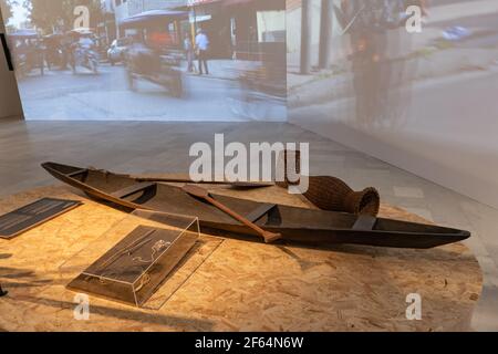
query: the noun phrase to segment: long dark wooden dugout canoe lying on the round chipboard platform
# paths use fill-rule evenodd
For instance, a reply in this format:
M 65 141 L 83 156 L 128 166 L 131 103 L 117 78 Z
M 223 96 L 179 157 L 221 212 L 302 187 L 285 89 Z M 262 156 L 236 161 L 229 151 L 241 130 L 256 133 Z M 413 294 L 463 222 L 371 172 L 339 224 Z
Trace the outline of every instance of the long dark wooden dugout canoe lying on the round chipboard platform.
M 42 167 L 56 179 L 93 198 L 129 209 L 197 216 L 203 232 L 221 231 L 256 238 L 256 233 L 248 227 L 177 186 L 55 163 L 45 163 Z M 433 225 L 264 204 L 219 195 L 214 197 L 262 229 L 281 233 L 283 240 L 313 246 L 355 243 L 426 249 L 470 237 L 470 232 L 465 230 Z

